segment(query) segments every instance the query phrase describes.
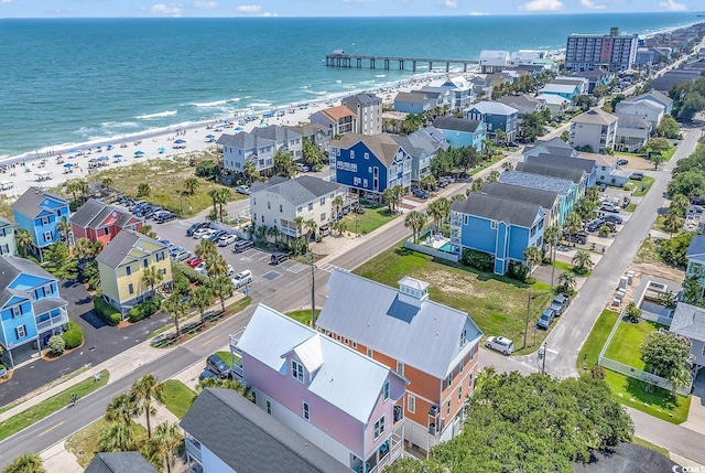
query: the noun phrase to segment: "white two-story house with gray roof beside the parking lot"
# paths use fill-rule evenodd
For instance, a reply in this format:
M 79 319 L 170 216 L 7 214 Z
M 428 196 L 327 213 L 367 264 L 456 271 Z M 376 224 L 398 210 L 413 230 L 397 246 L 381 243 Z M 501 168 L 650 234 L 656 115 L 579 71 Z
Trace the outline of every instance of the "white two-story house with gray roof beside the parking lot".
M 274 227 L 279 235 L 299 238 L 306 228 L 296 226 L 296 218 L 314 221 L 318 227 L 336 221 L 339 208 L 333 204 L 345 191 L 335 182 L 311 175 L 296 179 L 274 176 L 250 189 L 250 215 L 256 227 Z M 315 239 L 314 232 L 312 238 Z

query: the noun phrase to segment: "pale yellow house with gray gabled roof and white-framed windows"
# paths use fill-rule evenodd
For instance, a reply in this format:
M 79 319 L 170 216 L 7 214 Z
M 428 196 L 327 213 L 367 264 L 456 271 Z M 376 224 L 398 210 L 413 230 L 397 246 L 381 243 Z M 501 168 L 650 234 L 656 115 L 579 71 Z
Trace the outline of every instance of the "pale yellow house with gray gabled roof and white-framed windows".
M 172 282 L 169 249 L 140 233 L 122 229 L 96 258 L 100 271 L 102 298 L 126 314 L 151 295 L 152 288 L 142 280 L 144 270 L 155 266 L 163 279 L 154 289 Z

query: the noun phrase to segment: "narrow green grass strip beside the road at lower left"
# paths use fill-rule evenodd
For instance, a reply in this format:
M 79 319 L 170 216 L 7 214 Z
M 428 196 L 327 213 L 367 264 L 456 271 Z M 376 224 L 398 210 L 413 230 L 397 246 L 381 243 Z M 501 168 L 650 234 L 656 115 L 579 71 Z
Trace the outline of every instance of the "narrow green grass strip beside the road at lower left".
M 86 395 L 95 391 L 98 388 L 104 387 L 108 384 L 108 379 L 110 379 L 110 374 L 107 369 L 100 372 L 100 380 L 96 381 L 93 377 L 84 379 L 69 387 L 68 389 L 52 396 L 51 398 L 26 409 L 23 412 L 18 413 L 17 416 L 12 416 L 11 418 L 0 422 L 0 440 L 4 440 L 8 437 L 19 432 L 22 429 L 25 429 L 33 424 L 34 422 L 39 422 L 45 417 L 56 412 L 59 409 L 65 409 L 66 406 L 70 402 L 70 395 L 77 394 L 78 398 L 83 398 Z M 79 400 L 80 402 L 80 400 Z

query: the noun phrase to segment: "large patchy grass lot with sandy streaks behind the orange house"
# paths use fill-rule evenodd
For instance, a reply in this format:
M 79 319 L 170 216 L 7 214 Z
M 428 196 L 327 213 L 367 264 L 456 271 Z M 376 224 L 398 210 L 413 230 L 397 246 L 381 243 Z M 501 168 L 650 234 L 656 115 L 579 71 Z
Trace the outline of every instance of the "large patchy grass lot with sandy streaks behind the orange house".
M 429 255 L 399 248 L 383 251 L 354 271 L 365 278 L 397 287 L 404 276 L 411 276 L 431 284 L 433 301 L 468 312 L 485 335 L 503 335 L 523 344 L 527 316 L 528 286 L 519 281 L 480 272 L 460 265 L 434 261 Z M 540 346 L 547 332 L 538 331 L 533 344 L 533 326 L 539 315 L 553 298 L 545 283 L 531 286 L 533 297 L 529 319 L 528 348 L 514 353 L 525 354 Z

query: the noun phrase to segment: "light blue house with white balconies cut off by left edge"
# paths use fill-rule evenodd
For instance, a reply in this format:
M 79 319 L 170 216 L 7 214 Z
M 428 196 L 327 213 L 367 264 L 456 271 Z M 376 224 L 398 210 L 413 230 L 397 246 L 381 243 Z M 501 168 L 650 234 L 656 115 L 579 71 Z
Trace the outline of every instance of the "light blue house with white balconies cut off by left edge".
M 32 261 L 0 256 L 0 345 L 8 366 L 12 352 L 34 343 L 41 351 L 68 324 L 67 302 L 58 295 L 58 280 Z

